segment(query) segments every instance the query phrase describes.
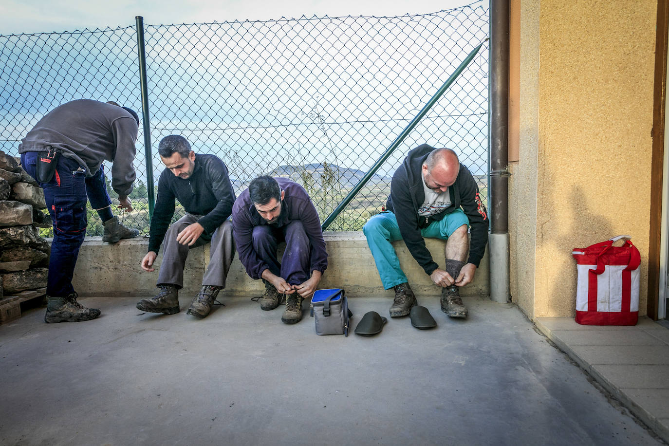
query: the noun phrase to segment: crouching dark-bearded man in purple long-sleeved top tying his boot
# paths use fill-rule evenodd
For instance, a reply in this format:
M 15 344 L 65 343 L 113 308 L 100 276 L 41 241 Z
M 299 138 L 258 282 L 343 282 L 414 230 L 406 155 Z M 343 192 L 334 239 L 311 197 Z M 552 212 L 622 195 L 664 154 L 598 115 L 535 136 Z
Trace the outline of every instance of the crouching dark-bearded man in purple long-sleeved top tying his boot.
M 252 279 L 262 279 L 262 310 L 279 306 L 286 294 L 281 320 L 302 319 L 302 300 L 311 298 L 328 266 L 328 254 L 318 212 L 302 186 L 285 178 L 254 179 L 232 207 L 237 252 Z M 279 263 L 276 249 L 286 241 Z

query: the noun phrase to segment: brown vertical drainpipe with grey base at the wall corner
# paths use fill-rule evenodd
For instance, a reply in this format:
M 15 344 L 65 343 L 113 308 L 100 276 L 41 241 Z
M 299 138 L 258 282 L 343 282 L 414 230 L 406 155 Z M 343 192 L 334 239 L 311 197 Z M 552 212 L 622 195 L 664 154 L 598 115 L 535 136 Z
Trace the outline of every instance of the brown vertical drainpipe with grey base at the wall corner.
M 508 302 L 509 0 L 490 0 L 490 299 Z

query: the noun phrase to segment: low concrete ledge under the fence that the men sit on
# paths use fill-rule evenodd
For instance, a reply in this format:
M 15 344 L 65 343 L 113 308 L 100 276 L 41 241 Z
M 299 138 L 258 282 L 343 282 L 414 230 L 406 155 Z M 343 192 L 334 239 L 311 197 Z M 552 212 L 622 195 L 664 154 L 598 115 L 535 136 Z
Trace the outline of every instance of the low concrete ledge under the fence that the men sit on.
M 360 231 L 324 234 L 326 249 L 329 254 L 320 288 L 344 288 L 347 295 L 369 296 L 371 294 L 392 297 L 392 290 L 381 290 L 381 280 L 377 272 L 365 235 Z M 426 239 L 425 244 L 438 263 L 444 264 L 446 243 L 438 239 Z M 432 284 L 432 280 L 411 257 L 403 243 L 393 243 L 399 261 L 409 277 L 409 284 L 416 294 L 438 296 L 441 288 Z M 150 296 L 155 294 L 155 281 L 163 259 L 159 253 L 156 259 L 156 271 L 146 273 L 140 267 L 142 257 L 147 253 L 148 239 L 122 240 L 114 245 L 104 243 L 101 237 L 88 237 L 79 253 L 74 271 L 73 284 L 82 296 Z M 201 285 L 205 265 L 209 260 L 209 245 L 191 249 L 184 270 L 185 295 L 195 294 Z M 463 296 L 488 296 L 488 253 L 476 270 L 474 281 L 462 289 Z M 226 294 L 238 296 L 260 296 L 264 290 L 262 281 L 251 280 L 237 258 L 233 260 L 225 284 Z

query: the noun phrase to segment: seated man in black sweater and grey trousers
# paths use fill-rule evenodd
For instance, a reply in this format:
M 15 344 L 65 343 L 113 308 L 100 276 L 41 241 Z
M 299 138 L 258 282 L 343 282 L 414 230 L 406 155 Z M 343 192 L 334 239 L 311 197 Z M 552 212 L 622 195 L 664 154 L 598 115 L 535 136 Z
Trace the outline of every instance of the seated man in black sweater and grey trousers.
M 167 169 L 158 181 L 158 198 L 149 230 L 149 252 L 142 259 L 142 269 L 154 271 L 153 262 L 165 239 L 157 284 L 160 291 L 153 299 L 137 302 L 137 308 L 152 313 L 178 313 L 178 290 L 183 288 L 183 266 L 188 250 L 211 243 L 202 288 L 187 311 L 201 319 L 209 314 L 217 294 L 225 288 L 225 278 L 235 252 L 229 219 L 235 193 L 223 161 L 214 155 L 195 154 L 183 136 L 165 136 L 158 152 Z M 175 199 L 187 214 L 168 229 L 175 211 Z

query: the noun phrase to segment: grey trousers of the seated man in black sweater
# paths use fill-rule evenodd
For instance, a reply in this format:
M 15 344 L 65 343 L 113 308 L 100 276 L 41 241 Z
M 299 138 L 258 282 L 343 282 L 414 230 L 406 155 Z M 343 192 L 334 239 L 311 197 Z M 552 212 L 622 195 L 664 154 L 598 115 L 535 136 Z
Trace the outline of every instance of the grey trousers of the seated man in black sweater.
M 163 262 L 158 273 L 158 285 L 175 285 L 183 288 L 183 267 L 191 248 L 211 243 L 209 265 L 202 277 L 202 286 L 225 287 L 225 277 L 230 270 L 232 257 L 235 254 L 235 241 L 232 239 L 232 222 L 230 219 L 213 231 L 211 241 L 206 235 L 201 235 L 193 246 L 181 245 L 177 242 L 177 235 L 188 225 L 195 223 L 197 217 L 186 214 L 167 229 L 163 241 Z

